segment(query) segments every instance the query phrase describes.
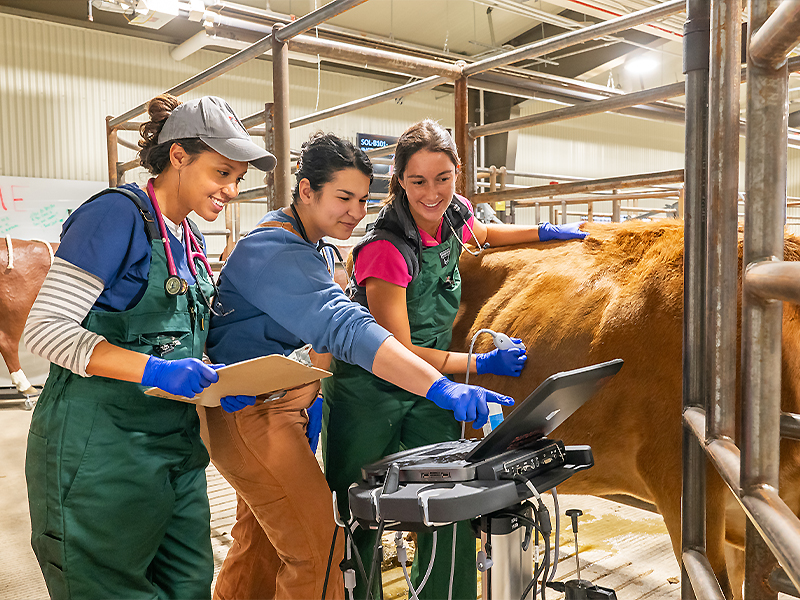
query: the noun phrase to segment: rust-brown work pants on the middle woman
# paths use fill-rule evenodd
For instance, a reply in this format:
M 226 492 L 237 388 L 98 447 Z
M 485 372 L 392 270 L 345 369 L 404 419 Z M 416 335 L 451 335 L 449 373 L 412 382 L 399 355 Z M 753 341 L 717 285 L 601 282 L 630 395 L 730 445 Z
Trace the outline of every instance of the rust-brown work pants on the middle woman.
M 235 413 L 199 408 L 214 466 L 236 489 L 233 545 L 214 588 L 219 600 L 322 598 L 336 527 L 331 492 L 305 429 L 319 383 Z M 336 538 L 325 598 L 344 598 Z

